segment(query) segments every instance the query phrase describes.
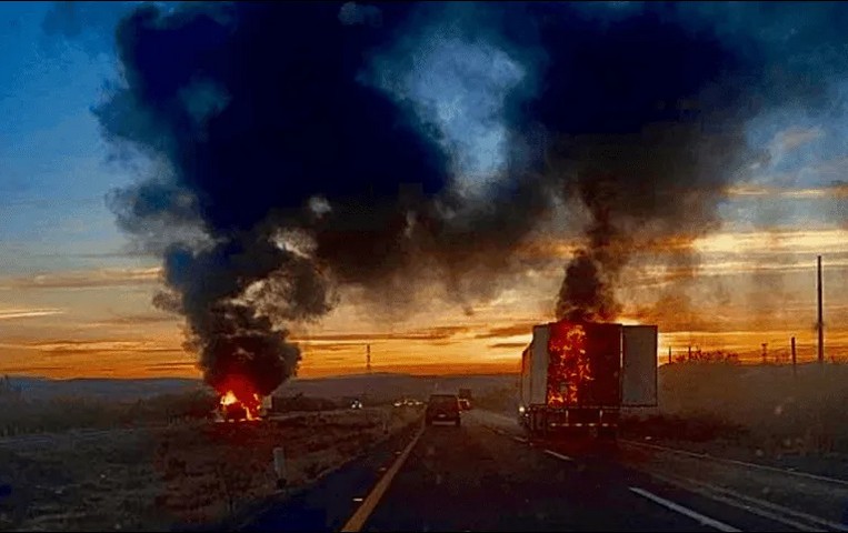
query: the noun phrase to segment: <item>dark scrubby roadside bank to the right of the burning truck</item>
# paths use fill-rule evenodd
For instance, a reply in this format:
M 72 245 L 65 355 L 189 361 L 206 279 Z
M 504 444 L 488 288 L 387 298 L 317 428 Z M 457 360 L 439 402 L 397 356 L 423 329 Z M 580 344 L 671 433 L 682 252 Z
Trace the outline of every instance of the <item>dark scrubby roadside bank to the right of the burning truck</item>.
M 626 435 L 720 441 L 759 456 L 848 453 L 848 366 L 696 360 L 659 369 L 659 406 L 633 411 Z

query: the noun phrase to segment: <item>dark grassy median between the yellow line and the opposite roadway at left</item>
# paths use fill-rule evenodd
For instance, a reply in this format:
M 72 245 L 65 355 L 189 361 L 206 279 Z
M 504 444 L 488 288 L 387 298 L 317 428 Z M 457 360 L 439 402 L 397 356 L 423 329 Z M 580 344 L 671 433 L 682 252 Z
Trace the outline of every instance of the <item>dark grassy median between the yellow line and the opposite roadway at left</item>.
M 416 423 L 387 409 L 293 414 L 259 423 L 192 422 L 139 431 L 21 439 L 0 446 L 0 530 L 170 531 L 227 520 L 288 484 L 319 479 Z

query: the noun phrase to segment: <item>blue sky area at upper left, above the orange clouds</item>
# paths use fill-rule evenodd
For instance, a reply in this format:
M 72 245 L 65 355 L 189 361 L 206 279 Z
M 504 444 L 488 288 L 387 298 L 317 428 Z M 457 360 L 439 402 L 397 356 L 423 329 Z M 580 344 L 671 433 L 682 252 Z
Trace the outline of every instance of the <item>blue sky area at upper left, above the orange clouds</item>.
M 120 264 L 119 234 L 103 194 L 130 177 L 107 163 L 90 108 L 114 57 L 92 39 L 48 34 L 51 3 L 0 7 L 0 272 L 22 274 Z

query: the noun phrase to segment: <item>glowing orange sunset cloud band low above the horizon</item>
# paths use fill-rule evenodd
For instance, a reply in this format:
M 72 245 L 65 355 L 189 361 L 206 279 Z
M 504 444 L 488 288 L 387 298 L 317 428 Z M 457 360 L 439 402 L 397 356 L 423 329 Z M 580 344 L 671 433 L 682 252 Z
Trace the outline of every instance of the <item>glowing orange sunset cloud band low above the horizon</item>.
M 828 346 L 848 350 L 848 339 L 840 340 L 848 329 L 841 318 L 848 316 L 848 231 L 715 233 L 691 242 L 698 263 L 677 261 L 688 243 L 650 243 L 622 276 L 620 320 L 659 324 L 661 356 L 691 342 L 756 360 L 762 342 L 784 350 L 792 334 L 811 356 L 815 254 L 822 252 Z M 321 324 L 292 332 L 303 353 L 300 375 L 362 372 L 366 344 L 376 371 L 515 372 L 532 325 L 552 320 L 547 310 L 577 244 L 528 243 L 522 253 L 538 268 L 498 298 L 475 302 L 472 315 L 433 302 L 389 321 L 348 299 Z M 197 378 L 196 355 L 182 351 L 182 319 L 150 304 L 160 275 L 151 266 L 0 278 L 0 373 Z

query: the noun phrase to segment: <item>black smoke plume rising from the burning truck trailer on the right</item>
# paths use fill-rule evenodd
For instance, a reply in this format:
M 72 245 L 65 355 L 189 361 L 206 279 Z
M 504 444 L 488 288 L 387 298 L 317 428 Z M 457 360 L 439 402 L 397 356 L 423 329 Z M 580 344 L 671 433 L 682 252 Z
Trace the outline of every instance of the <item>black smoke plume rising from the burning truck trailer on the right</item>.
M 611 20 L 590 6 L 527 9 L 535 23 L 520 34 L 546 53 L 545 90 L 525 118 L 553 140 L 543 172 L 588 218 L 555 312 L 610 320 L 635 253 L 716 228 L 722 191 L 750 155 L 741 73 L 751 64 L 664 2 Z

